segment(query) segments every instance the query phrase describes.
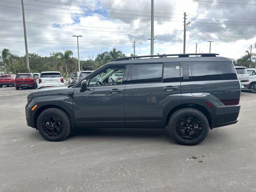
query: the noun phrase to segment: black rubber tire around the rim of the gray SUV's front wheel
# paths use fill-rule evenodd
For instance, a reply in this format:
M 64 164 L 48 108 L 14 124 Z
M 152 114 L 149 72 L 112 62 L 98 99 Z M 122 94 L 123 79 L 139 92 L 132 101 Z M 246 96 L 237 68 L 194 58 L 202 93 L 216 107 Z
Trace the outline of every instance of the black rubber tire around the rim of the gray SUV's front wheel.
M 59 135 L 56 134 L 56 136 L 49 136 L 45 131 L 44 125 L 42 123 L 45 123 L 45 119 L 47 119 L 48 116 L 56 116 L 60 121 L 62 121 L 62 131 Z M 50 128 L 50 126 L 48 126 Z M 40 133 L 40 135 L 45 138 L 48 141 L 61 141 L 64 140 L 67 136 L 69 136 L 71 132 L 71 122 L 69 116 L 61 109 L 58 108 L 49 108 L 44 110 L 37 119 L 37 128 Z

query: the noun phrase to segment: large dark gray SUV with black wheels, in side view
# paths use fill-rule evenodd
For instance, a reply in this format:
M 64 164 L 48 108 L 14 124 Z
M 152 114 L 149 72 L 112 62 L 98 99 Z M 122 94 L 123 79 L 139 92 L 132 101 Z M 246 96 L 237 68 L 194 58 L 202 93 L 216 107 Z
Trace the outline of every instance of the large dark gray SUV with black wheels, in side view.
M 238 122 L 240 82 L 232 61 L 216 55 L 118 58 L 75 85 L 28 94 L 27 124 L 49 141 L 81 127 L 167 128 L 179 144 L 198 144 Z M 109 78 L 120 71 L 121 81 Z

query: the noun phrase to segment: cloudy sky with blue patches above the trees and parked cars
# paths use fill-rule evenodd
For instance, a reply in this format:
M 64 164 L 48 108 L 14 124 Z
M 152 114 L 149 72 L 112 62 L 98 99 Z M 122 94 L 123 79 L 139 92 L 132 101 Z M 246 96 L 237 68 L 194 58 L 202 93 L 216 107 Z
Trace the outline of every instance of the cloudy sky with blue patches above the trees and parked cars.
M 130 55 L 133 40 L 136 54 L 150 54 L 151 0 L 24 0 L 24 7 L 29 52 L 70 49 L 77 57 L 72 35 L 82 35 L 82 60 L 112 48 Z M 186 53 L 195 53 L 196 43 L 208 53 L 211 40 L 211 52 L 237 59 L 256 42 L 255 10 L 256 0 L 154 0 L 154 53 L 183 52 L 186 12 Z M 25 54 L 20 0 L 0 0 L 2 48 Z

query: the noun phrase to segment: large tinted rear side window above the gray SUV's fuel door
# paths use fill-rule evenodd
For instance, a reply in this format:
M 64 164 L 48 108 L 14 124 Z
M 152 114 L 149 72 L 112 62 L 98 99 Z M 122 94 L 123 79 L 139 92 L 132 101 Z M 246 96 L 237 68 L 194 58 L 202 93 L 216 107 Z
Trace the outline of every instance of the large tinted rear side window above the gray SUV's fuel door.
M 222 80 L 219 62 L 190 62 L 192 81 Z

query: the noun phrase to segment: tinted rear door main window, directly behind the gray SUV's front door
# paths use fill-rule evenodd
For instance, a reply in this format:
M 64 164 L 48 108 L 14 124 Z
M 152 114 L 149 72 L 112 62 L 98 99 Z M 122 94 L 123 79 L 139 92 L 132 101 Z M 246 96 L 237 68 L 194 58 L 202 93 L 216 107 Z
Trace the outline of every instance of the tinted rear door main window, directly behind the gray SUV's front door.
M 133 65 L 132 83 L 162 82 L 163 64 Z

